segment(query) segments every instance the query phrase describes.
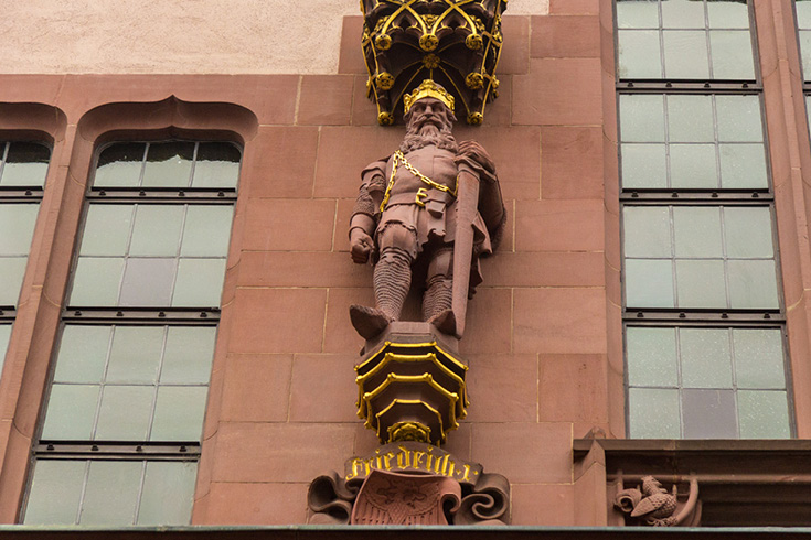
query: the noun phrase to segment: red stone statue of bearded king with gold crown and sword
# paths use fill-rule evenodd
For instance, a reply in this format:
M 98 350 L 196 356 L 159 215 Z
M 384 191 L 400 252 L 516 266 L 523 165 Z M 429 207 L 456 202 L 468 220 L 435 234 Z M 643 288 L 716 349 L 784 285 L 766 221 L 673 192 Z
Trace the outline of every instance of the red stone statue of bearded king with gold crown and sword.
M 482 281 L 479 258 L 501 237 L 495 165 L 478 142 L 457 143 L 453 102 L 424 80 L 404 97 L 399 149 L 363 171 L 349 236 L 352 260 L 375 263 L 375 305 L 352 305 L 350 316 L 366 339 L 399 321 L 413 283 L 423 291 L 423 320 L 461 337 L 468 298 Z

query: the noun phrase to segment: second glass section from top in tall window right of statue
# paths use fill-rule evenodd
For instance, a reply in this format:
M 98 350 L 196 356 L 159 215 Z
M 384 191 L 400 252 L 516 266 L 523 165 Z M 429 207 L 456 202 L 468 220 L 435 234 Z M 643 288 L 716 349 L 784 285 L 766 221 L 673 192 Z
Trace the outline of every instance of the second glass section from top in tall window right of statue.
M 621 94 L 622 187 L 765 188 L 756 95 Z

